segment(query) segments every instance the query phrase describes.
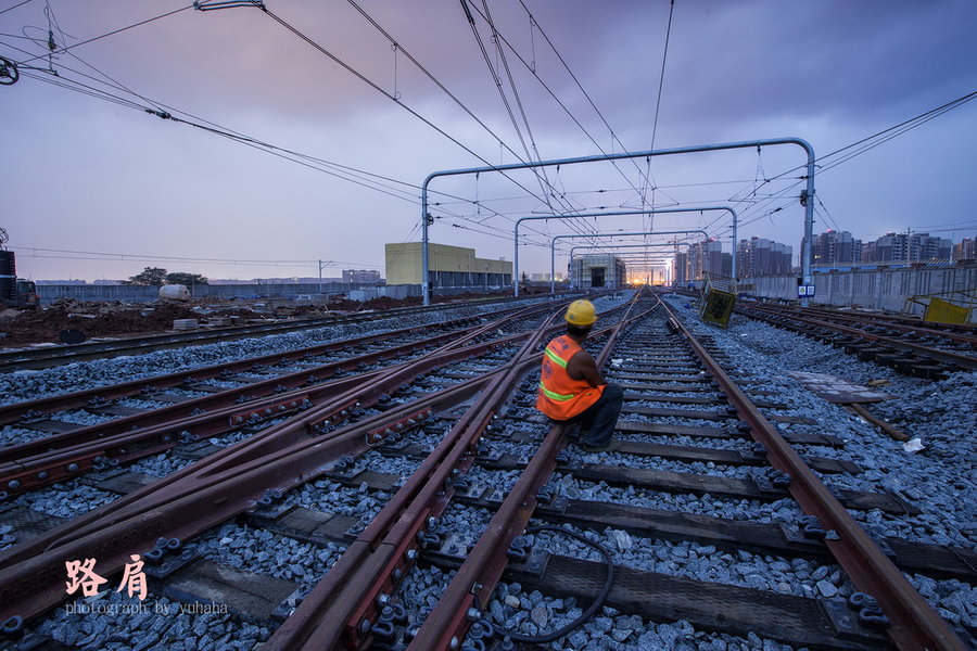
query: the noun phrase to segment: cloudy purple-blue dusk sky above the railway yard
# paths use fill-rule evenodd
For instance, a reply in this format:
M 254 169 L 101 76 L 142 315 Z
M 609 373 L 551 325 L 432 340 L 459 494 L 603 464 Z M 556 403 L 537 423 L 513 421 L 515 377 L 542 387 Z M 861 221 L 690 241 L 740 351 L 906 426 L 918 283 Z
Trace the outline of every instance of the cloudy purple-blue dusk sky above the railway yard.
M 820 158 L 815 232 L 977 234 L 977 102 L 828 155 L 977 91 L 973 0 L 266 8 L 0 0 L 20 73 L 0 87 L 0 226 L 21 276 L 382 270 L 384 243 L 419 239 L 432 171 L 782 137 Z M 802 163 L 782 145 L 436 179 L 431 239 L 512 259 L 521 217 L 732 206 L 740 239 L 797 253 Z M 553 237 L 589 235 L 558 240 L 566 264 L 610 241 L 597 231 L 703 229 L 728 251 L 729 226 L 722 210 L 534 220 L 520 266 L 548 271 Z

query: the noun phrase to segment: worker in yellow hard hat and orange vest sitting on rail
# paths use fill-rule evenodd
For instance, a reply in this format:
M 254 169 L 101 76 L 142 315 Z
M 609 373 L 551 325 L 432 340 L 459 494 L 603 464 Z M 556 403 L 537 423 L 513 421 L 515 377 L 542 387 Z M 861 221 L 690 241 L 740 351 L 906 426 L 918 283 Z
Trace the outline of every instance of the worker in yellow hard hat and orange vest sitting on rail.
M 580 423 L 583 448 L 588 452 L 618 449 L 614 425 L 624 391 L 608 384 L 591 354 L 581 347 L 597 322 L 589 301 L 574 301 L 563 315 L 567 334 L 556 337 L 543 354 L 536 409 L 550 419 Z

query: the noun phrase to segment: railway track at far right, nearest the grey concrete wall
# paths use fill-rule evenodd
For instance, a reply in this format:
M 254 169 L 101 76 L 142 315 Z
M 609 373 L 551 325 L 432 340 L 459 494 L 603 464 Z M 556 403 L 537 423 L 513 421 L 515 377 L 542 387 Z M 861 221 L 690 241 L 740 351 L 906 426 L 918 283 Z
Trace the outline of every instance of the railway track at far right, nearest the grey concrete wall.
M 918 378 L 942 379 L 960 370 L 977 370 L 977 334 L 972 328 L 935 328 L 902 319 L 752 302 L 740 302 L 736 312 Z

